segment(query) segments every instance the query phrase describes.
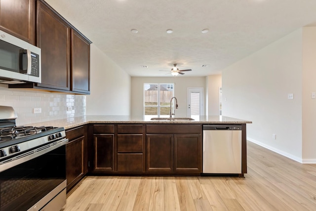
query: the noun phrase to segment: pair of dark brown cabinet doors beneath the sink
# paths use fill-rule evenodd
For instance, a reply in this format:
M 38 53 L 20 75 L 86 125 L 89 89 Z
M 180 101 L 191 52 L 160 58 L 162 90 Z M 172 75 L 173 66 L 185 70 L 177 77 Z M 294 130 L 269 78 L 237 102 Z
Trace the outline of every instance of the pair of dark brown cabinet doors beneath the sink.
M 147 135 L 148 172 L 201 172 L 201 136 Z

